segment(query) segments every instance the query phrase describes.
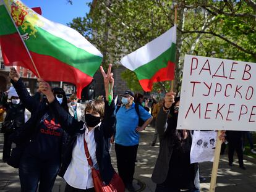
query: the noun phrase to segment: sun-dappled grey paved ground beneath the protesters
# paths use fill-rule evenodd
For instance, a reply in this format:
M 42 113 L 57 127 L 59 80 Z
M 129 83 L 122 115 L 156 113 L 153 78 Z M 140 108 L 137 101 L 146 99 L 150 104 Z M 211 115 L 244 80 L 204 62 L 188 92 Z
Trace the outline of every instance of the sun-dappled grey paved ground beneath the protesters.
M 134 177 L 139 179 L 134 185 L 139 191 L 155 191 L 155 184 L 151 182 L 151 173 L 155 165 L 156 157 L 158 155 L 159 145 L 151 147 L 151 138 L 153 136 L 153 128 L 147 128 L 147 131 L 141 133 L 140 146 L 135 175 Z M 3 136 L 0 135 L 0 159 L 2 159 L 2 143 Z M 116 157 L 114 154 L 114 146 L 111 150 L 112 162 L 116 169 Z M 234 167 L 228 166 L 228 157 L 226 155 L 221 156 L 216 192 L 254 192 L 256 191 L 256 161 L 245 157 L 245 167 L 247 170 L 241 170 L 238 167 L 238 162 L 234 162 Z M 236 159 L 236 157 L 235 157 Z M 201 191 L 208 191 L 210 186 L 210 173 L 211 173 L 211 162 L 205 162 L 200 164 L 200 174 L 206 177 L 207 180 L 201 183 Z M 54 185 L 54 192 L 64 191 L 65 182 L 62 178 L 57 178 Z M 20 191 L 19 176 L 17 169 L 9 167 L 7 164 L 0 163 L 0 191 Z

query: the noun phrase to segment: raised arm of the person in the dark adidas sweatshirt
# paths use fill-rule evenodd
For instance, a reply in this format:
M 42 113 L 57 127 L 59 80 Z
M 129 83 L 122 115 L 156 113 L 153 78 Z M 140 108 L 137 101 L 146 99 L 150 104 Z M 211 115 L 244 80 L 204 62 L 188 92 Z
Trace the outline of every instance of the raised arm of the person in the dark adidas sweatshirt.
M 22 104 L 25 106 L 25 108 L 27 108 L 30 112 L 35 111 L 35 109 L 40 105 L 40 101 L 36 101 L 35 98 L 30 96 L 27 88 L 20 79 L 19 73 L 15 70 L 14 67 L 11 67 L 10 69 L 10 78 L 12 85 L 19 95 L 20 101 L 22 101 Z

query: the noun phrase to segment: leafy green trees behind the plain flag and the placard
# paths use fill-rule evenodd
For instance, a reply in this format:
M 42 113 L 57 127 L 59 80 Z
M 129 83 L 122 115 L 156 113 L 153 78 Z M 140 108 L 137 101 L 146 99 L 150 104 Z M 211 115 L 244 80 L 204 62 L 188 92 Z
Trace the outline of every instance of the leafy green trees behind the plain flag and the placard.
M 118 66 L 122 56 L 160 36 L 174 24 L 173 2 L 168 0 L 98 0 L 91 12 L 69 23 L 103 52 L 104 64 Z M 255 3 L 246 1 L 178 1 L 176 89 L 182 80 L 185 54 L 256 61 Z M 133 90 L 139 82 L 133 72 L 122 73 Z M 166 91 L 169 82 L 155 83 Z

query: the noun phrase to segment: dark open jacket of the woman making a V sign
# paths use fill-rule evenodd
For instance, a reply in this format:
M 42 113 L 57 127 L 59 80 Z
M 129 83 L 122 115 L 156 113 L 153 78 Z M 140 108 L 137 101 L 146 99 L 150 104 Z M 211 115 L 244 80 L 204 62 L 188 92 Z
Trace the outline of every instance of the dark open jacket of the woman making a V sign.
M 78 122 L 74 117 L 64 111 L 56 99 L 49 104 L 49 106 L 60 120 L 61 127 L 71 136 L 66 152 L 62 158 L 61 170 L 59 171 L 59 176 L 64 177 L 67 167 L 69 167 L 72 159 L 72 150 L 77 140 L 77 135 L 85 133 L 85 128 L 83 128 L 84 123 L 82 121 Z M 114 102 L 111 102 L 110 106 L 108 106 L 108 102 L 105 102 L 104 119 L 102 120 L 100 127 L 95 128 L 94 136 L 96 142 L 96 159 L 100 167 L 101 178 L 106 184 L 110 182 L 114 174 L 109 154 L 109 138 L 114 134 L 115 124 Z

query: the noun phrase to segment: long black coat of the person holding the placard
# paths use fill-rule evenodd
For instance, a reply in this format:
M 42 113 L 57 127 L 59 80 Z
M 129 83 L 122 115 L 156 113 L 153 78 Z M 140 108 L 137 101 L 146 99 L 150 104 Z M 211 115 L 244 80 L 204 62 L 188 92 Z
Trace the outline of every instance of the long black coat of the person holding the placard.
M 179 130 L 176 130 L 176 119 L 174 119 L 174 116 L 173 118 L 168 118 L 168 116 L 169 113 L 164 112 L 161 108 L 156 119 L 156 130 L 160 138 L 160 151 L 151 178 L 157 184 L 166 182 L 164 184 L 169 185 L 168 182 L 170 182 L 174 183 L 174 185 L 177 183 L 176 187 L 182 189 L 193 189 L 194 186 L 195 188 L 199 188 L 198 164 L 194 163 L 190 165 L 189 162 L 192 135 L 189 133 L 187 140 L 177 142 L 176 131 Z M 183 143 L 185 152 L 180 151 L 179 143 Z M 179 175 L 179 178 L 176 178 L 177 175 Z M 184 178 L 181 175 L 185 175 L 184 177 L 189 176 Z M 191 180 L 190 177 L 192 177 Z M 193 182 L 193 186 L 190 185 L 191 182 Z

